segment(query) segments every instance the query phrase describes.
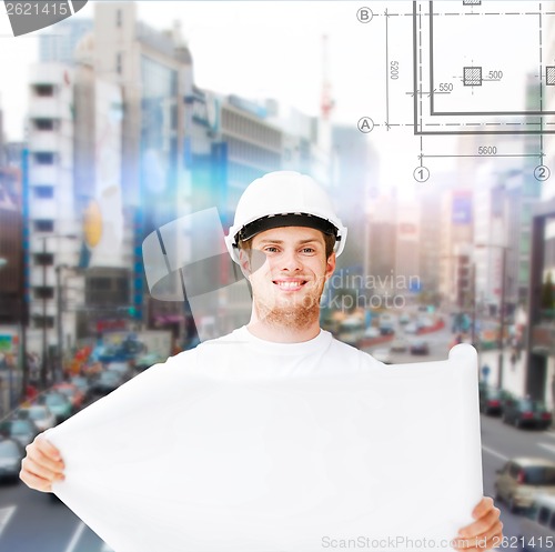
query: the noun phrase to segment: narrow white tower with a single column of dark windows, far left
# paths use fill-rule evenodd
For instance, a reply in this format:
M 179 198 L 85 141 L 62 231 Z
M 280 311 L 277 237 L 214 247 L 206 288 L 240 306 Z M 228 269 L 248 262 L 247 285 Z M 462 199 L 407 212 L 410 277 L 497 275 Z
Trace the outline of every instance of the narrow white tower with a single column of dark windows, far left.
M 29 349 L 39 352 L 43 362 L 47 357 L 53 362 L 61 345 L 56 332 L 60 328 L 60 270 L 77 265 L 80 249 L 73 194 L 72 81 L 72 68 L 64 63 L 38 63 L 30 69 L 23 190 L 29 241 L 24 253 L 29 267 Z

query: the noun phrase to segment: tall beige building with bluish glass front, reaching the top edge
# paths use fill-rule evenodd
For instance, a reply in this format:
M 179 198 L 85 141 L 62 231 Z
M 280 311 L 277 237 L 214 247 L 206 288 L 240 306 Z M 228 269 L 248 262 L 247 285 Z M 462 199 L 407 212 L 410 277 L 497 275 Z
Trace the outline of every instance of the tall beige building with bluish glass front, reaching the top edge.
M 189 212 L 181 152 L 192 58 L 178 23 L 170 31 L 154 30 L 137 19 L 132 2 L 95 4 L 93 36 L 95 76 L 120 88 L 124 106 L 121 198 L 122 210 L 132 217 L 125 224 L 132 228 L 128 307 L 135 323 L 169 328 L 176 338 L 183 327 L 183 294 L 170 301 L 150 298 L 142 244 Z

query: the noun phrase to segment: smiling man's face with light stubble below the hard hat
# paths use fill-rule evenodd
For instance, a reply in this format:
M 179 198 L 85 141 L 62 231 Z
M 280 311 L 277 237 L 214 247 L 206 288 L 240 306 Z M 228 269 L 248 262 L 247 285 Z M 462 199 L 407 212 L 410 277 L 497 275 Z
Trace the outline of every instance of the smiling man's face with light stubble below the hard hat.
M 283 227 L 256 234 L 242 267 L 252 285 L 259 320 L 302 328 L 317 320 L 320 298 L 335 269 L 335 253 L 325 258 L 322 232 Z

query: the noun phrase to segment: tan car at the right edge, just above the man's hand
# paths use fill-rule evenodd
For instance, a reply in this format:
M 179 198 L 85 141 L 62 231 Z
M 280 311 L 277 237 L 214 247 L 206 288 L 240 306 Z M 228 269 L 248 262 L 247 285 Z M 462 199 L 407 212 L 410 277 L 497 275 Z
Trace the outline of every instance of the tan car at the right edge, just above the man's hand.
M 512 512 L 532 505 L 538 493 L 555 495 L 555 462 L 538 456 L 517 456 L 496 471 L 495 500 L 508 504 Z

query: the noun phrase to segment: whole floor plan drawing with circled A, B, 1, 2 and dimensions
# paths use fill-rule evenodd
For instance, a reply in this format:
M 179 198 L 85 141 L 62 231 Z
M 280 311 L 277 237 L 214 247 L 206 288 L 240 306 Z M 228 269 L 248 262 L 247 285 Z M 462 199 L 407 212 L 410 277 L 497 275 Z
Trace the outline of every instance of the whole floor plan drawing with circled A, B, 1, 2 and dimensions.
M 377 131 L 411 127 L 420 137 L 415 180 L 430 178 L 424 158 L 461 157 L 445 153 L 445 138 L 464 136 L 475 137 L 464 157 L 536 158 L 535 178 L 549 178 L 543 159 L 555 134 L 554 2 L 413 1 L 381 12 L 376 2 L 372 17 L 385 27 L 385 123 L 369 114 Z M 410 52 L 402 36 L 412 37 Z M 519 134 L 532 137 L 526 151 L 508 140 Z M 432 137 L 444 138 L 438 144 Z M 424 153 L 428 141 L 441 151 Z

